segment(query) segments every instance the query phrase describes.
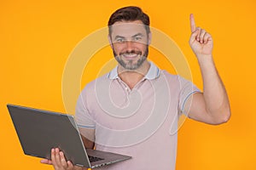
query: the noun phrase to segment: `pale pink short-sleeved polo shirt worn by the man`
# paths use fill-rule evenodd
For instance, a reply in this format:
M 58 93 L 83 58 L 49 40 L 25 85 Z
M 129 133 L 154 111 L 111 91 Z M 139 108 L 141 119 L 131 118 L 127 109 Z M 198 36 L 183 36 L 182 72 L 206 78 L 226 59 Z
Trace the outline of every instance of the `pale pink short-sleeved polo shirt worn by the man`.
M 130 89 L 116 67 L 83 89 L 76 120 L 80 128 L 95 129 L 96 150 L 132 156 L 101 169 L 174 170 L 177 121 L 185 102 L 196 92 L 200 90 L 191 82 L 153 63 Z

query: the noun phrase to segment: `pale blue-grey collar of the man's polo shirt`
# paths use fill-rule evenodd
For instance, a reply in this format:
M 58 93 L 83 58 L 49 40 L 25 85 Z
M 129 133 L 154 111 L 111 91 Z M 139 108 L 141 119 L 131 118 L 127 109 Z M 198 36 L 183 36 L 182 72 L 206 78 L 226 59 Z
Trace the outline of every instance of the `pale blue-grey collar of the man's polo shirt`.
M 144 78 L 148 80 L 153 80 L 160 76 L 160 69 L 156 65 L 154 65 L 153 62 L 149 61 L 149 64 L 150 64 L 150 67 L 149 67 L 148 73 Z M 119 77 L 117 68 L 118 66 L 114 67 L 113 70 L 108 73 L 109 79 L 116 79 Z

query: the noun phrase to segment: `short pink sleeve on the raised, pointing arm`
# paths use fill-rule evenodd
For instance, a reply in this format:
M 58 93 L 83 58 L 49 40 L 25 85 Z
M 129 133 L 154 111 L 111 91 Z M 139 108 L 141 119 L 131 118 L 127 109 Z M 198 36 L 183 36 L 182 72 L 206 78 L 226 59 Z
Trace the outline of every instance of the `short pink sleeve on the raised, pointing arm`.
M 201 93 L 201 90 L 197 88 L 192 82 L 184 79 L 183 77 L 178 77 L 180 83 L 180 92 L 179 92 L 179 111 L 185 113 L 185 104 L 188 101 L 189 97 L 195 93 Z

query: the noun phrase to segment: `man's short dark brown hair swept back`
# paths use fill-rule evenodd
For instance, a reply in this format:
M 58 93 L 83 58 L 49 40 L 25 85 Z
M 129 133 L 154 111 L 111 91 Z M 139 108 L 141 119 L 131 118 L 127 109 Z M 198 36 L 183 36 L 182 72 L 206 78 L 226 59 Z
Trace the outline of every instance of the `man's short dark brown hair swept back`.
M 124 8 L 119 8 L 116 10 L 108 20 L 108 33 L 111 35 L 111 26 L 118 21 L 134 21 L 141 20 L 145 26 L 147 33 L 150 32 L 149 29 L 149 17 L 148 14 L 143 13 L 143 10 L 139 7 L 129 6 Z

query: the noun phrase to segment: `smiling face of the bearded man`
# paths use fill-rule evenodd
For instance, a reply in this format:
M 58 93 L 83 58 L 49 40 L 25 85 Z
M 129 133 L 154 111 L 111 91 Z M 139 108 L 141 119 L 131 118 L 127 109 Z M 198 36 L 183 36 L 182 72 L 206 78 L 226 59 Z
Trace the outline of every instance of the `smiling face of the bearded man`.
M 150 35 L 141 20 L 114 23 L 109 41 L 115 59 L 126 70 L 136 70 L 148 57 Z

